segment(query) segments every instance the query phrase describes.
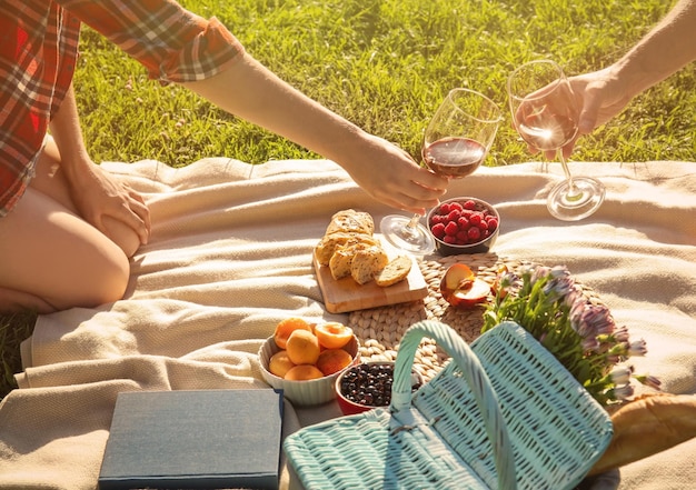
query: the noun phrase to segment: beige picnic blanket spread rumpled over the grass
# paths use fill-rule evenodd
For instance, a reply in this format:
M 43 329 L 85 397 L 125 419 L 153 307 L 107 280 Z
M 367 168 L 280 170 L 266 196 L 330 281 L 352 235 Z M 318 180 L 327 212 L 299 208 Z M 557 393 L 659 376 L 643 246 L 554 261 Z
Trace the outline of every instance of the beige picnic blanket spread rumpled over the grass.
M 38 319 L 20 389 L 0 406 L 0 489 L 95 489 L 120 391 L 265 387 L 256 353 L 277 321 L 347 318 L 324 309 L 310 260 L 330 216 L 359 208 L 378 222 L 394 212 L 324 160 L 105 166 L 145 192 L 152 237 L 132 260 L 123 300 Z M 453 181 L 449 196 L 495 203 L 499 256 L 566 264 L 645 338 L 638 372 L 666 391 L 696 392 L 696 163 L 571 168 L 608 188 L 600 211 L 580 222 L 546 211 L 557 164 L 481 168 Z M 289 407 L 286 430 L 336 413 L 332 403 Z M 696 440 L 625 467 L 620 489 L 689 488 L 694 461 Z

